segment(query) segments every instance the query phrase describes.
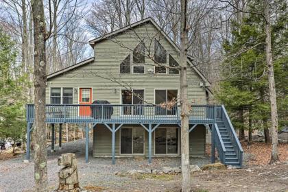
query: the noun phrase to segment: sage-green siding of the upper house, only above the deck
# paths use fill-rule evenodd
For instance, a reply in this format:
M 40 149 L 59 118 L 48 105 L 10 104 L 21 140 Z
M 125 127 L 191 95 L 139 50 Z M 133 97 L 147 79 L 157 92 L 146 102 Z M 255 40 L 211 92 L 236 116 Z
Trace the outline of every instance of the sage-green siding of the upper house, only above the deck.
M 157 36 L 156 28 L 151 25 L 141 25 L 139 28 L 134 29 L 139 33 L 139 36 L 153 39 L 152 36 Z M 146 32 L 149 34 L 147 37 Z M 117 41 L 117 43 L 115 43 Z M 123 44 L 123 46 L 119 44 Z M 120 91 L 124 86 L 130 86 L 132 88 L 144 88 L 145 100 L 148 103 L 154 103 L 154 89 L 157 88 L 180 88 L 179 75 L 170 74 L 120 74 L 120 63 L 122 60 L 132 53 L 125 47 L 134 49 L 138 45 L 139 39 L 134 35 L 134 32 L 128 31 L 126 33 L 118 35 L 112 40 L 103 40 L 97 43 L 95 49 L 95 61 L 90 64 L 85 64 L 82 67 L 78 67 L 73 71 L 64 73 L 64 75 L 58 75 L 48 80 L 47 84 L 47 104 L 49 104 L 49 89 L 51 87 L 73 87 L 77 90 L 74 93 L 73 102 L 78 104 L 78 94 L 80 87 L 92 87 L 93 88 L 93 100 L 94 99 L 107 99 L 112 104 L 120 103 Z M 160 38 L 160 43 L 167 50 L 167 62 L 169 53 L 179 62 L 177 51 L 172 47 L 165 38 Z M 153 44 L 152 44 L 153 45 Z M 154 46 L 151 46 L 154 49 Z M 152 51 L 153 52 L 153 51 Z M 132 58 L 132 57 L 131 57 Z M 145 71 L 149 68 L 154 69 L 152 66 L 154 62 L 145 58 Z M 189 79 L 188 97 L 191 103 L 206 104 L 205 90 L 200 87 L 199 84 L 202 79 L 191 68 L 188 68 L 187 76 Z M 124 86 L 119 85 L 117 82 L 107 80 L 110 78 L 117 82 L 123 82 Z M 115 93 L 114 90 L 117 90 Z

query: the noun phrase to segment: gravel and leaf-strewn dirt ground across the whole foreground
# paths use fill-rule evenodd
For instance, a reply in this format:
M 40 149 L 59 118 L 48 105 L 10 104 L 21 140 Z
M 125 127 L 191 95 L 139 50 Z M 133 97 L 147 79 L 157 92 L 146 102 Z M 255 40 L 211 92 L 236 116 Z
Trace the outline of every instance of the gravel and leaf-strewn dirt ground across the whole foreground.
M 61 153 L 73 152 L 78 160 L 80 184 L 91 191 L 180 191 L 181 175 L 147 174 L 143 177 L 129 175 L 116 176 L 115 171 L 125 173 L 130 169 L 160 169 L 161 167 L 177 167 L 180 158 L 153 158 L 152 165 L 147 159 L 117 159 L 116 165 L 111 165 L 110 158 L 90 158 L 84 161 L 84 140 L 63 144 L 64 149 L 48 153 L 49 190 L 56 189 L 58 178 L 57 156 Z M 288 192 L 288 144 L 280 144 L 279 156 L 282 163 L 267 165 L 270 145 L 265 143 L 242 143 L 245 152 L 245 167 L 243 169 L 222 169 L 200 171 L 191 174 L 191 187 L 195 192 L 240 192 L 240 191 L 276 191 Z M 3 154 L 0 154 L 3 156 Z M 11 156 L 12 157 L 12 156 Z M 202 163 L 199 163 L 201 162 Z M 209 158 L 191 160 L 201 167 Z M 23 163 L 23 154 L 0 159 L 0 192 L 33 191 L 34 163 Z

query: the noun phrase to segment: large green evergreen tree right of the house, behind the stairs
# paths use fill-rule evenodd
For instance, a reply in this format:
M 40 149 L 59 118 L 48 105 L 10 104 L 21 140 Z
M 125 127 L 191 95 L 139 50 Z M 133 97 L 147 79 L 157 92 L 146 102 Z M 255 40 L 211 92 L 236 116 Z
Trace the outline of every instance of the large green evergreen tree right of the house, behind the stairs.
M 263 3 L 250 1 L 249 11 L 261 10 Z M 272 50 L 274 50 L 274 73 L 278 110 L 287 110 L 287 3 L 274 1 L 276 16 L 272 22 Z M 224 43 L 226 60 L 222 63 L 222 75 L 217 98 L 228 106 L 235 127 L 240 131 L 261 129 L 265 141 L 269 140 L 269 93 L 267 64 L 265 60 L 265 21 L 263 16 L 245 14 L 242 23 L 232 23 L 231 40 Z

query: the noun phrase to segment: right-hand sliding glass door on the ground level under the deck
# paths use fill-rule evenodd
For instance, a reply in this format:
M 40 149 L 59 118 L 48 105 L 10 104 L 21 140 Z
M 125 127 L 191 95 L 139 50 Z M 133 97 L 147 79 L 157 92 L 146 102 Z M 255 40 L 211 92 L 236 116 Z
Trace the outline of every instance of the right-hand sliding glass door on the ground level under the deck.
M 178 128 L 155 130 L 155 154 L 178 154 Z

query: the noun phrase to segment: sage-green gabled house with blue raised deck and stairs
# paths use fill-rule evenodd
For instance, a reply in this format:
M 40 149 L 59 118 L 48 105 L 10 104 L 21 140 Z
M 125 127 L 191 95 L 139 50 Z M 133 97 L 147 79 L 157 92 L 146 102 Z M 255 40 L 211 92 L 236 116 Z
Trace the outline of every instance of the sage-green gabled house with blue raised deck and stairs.
M 179 48 L 150 18 L 89 41 L 94 57 L 47 76 L 47 123 L 91 123 L 93 156 L 180 156 Z M 205 155 L 206 127 L 223 163 L 241 167 L 241 145 L 210 83 L 187 58 L 191 157 Z M 170 67 L 170 68 L 169 68 Z M 91 105 L 97 101 L 97 105 Z M 108 101 L 109 104 L 104 104 Z M 163 103 L 173 101 L 170 107 Z M 34 106 L 27 106 L 27 132 Z M 88 126 L 86 161 L 88 161 Z M 28 136 L 29 137 L 29 136 Z M 53 149 L 53 146 L 52 146 Z M 29 152 L 27 153 L 29 159 Z

